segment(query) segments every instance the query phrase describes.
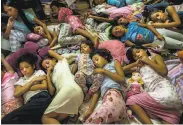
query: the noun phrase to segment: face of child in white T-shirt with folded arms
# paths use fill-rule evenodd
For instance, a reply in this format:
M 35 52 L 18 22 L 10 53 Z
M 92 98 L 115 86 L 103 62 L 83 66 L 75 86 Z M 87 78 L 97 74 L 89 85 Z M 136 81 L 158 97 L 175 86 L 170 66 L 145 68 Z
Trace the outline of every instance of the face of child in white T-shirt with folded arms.
M 19 65 L 19 68 L 20 68 L 21 73 L 24 76 L 30 77 L 34 73 L 35 66 L 32 66 L 31 64 L 29 64 L 27 62 L 21 62 Z

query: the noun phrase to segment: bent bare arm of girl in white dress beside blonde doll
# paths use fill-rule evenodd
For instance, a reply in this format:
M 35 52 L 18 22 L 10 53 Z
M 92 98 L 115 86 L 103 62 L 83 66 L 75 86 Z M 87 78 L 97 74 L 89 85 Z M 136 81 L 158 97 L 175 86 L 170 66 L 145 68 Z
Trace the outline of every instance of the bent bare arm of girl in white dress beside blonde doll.
M 163 61 L 163 58 L 160 55 L 155 56 L 155 62 L 151 61 L 148 57 L 142 57 L 140 59 L 145 64 L 150 65 L 156 72 L 158 72 L 162 76 L 166 76 L 168 73 L 167 67 Z

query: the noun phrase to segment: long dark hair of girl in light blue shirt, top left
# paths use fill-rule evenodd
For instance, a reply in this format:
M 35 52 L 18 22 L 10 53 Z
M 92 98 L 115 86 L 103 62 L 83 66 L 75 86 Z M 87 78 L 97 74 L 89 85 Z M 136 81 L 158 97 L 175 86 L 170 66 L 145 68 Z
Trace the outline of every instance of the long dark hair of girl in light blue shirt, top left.
M 30 31 L 34 31 L 34 24 L 31 23 L 27 17 L 25 16 L 25 13 L 23 12 L 23 10 L 21 9 L 22 3 L 19 2 L 19 0 L 7 0 L 6 2 L 3 3 L 3 5 L 6 6 L 11 6 L 14 7 L 18 10 L 18 14 L 21 17 L 22 21 L 24 22 L 24 24 L 28 27 L 28 29 Z

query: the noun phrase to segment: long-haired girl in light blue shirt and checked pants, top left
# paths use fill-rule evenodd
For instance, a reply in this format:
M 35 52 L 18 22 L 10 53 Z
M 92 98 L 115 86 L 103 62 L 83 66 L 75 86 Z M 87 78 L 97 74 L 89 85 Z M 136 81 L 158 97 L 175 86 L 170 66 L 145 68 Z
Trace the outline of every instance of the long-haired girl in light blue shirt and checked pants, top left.
M 33 27 L 38 24 L 47 30 L 46 25 L 34 15 L 23 11 L 19 1 L 11 0 L 3 2 L 4 11 L 8 14 L 9 20 L 4 38 L 9 39 L 11 51 L 15 52 L 26 42 L 26 35 L 33 32 Z

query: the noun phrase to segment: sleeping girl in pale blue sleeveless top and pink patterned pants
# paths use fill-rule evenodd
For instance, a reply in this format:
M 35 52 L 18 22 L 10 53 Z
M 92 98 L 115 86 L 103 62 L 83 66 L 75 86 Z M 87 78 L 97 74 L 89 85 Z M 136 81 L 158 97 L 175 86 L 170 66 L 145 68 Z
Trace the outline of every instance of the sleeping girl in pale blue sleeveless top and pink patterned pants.
M 114 122 L 125 123 L 127 119 L 125 101 L 122 96 L 122 85 L 125 77 L 121 64 L 112 60 L 110 52 L 105 49 L 95 50 L 90 54 L 93 63 L 97 67 L 94 73 L 105 76 L 101 89 L 97 92 L 85 114 L 84 120 L 87 124 L 109 124 Z M 101 92 L 102 104 L 95 109 Z

